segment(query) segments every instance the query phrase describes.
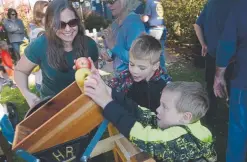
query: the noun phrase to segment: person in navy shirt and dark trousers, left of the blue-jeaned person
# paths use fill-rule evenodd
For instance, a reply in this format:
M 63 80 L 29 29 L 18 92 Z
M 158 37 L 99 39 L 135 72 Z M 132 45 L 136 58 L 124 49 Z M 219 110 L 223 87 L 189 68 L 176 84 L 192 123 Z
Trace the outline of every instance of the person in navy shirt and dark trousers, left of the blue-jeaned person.
M 196 35 L 202 47 L 201 55 L 206 60 L 205 81 L 210 100 L 210 108 L 206 115 L 207 121 L 212 121 L 217 108 L 217 99 L 213 91 L 216 49 L 231 3 L 232 0 L 208 1 L 194 24 Z

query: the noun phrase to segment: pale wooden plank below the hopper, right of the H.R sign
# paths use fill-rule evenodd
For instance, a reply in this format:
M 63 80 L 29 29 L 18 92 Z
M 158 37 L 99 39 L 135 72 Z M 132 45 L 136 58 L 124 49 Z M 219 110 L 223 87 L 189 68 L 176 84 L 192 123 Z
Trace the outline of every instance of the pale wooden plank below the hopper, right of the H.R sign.
M 123 135 L 118 134 L 99 141 L 93 152 L 91 153 L 90 157 L 92 158 L 105 152 L 111 151 L 115 147 L 115 141 L 122 137 Z

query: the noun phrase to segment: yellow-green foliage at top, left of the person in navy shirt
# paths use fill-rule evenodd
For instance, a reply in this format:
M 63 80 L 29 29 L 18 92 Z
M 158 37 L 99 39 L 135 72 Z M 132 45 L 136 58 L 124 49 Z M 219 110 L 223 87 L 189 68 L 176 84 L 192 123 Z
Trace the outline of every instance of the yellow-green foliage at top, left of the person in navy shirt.
M 205 2 L 206 0 L 162 0 L 168 39 L 194 44 L 197 39 L 193 24 Z

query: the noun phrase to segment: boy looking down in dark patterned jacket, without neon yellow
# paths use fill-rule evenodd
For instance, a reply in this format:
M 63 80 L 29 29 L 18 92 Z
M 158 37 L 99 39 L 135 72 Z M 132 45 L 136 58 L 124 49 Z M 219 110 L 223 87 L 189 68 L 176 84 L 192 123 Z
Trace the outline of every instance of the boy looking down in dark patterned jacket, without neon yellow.
M 162 89 L 171 78 L 160 68 L 162 49 L 159 41 L 152 36 L 142 35 L 130 49 L 129 70 L 113 78 L 110 87 L 127 96 L 140 106 L 155 112 L 159 106 Z

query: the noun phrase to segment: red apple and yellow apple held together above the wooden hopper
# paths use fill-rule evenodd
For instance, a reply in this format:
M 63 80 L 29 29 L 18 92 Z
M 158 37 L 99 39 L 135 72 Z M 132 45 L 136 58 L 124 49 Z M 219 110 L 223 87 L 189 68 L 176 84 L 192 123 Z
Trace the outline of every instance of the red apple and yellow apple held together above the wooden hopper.
M 80 57 L 75 61 L 75 80 L 80 88 L 83 88 L 84 81 L 91 74 L 91 63 L 86 57 Z

